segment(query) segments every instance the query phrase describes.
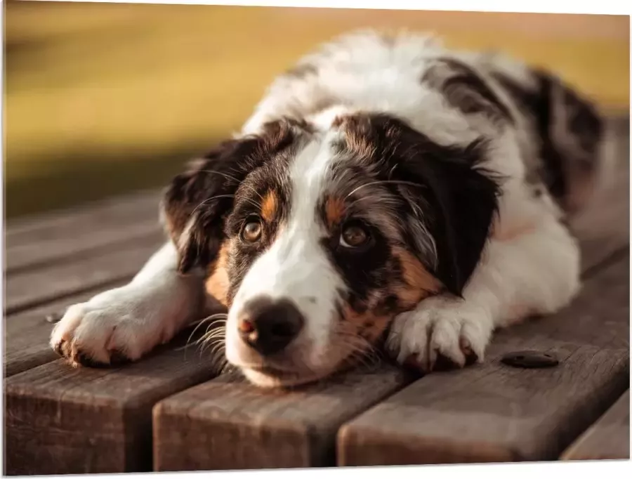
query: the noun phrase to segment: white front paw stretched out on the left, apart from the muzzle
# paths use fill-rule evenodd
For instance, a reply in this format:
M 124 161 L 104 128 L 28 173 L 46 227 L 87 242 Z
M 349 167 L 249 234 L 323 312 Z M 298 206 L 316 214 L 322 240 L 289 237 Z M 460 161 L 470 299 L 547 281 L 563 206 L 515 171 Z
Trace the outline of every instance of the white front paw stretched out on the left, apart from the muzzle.
M 116 366 L 138 360 L 166 341 L 151 304 L 125 288 L 70 306 L 51 334 L 51 347 L 72 365 Z M 167 336 L 171 336 L 168 334 Z

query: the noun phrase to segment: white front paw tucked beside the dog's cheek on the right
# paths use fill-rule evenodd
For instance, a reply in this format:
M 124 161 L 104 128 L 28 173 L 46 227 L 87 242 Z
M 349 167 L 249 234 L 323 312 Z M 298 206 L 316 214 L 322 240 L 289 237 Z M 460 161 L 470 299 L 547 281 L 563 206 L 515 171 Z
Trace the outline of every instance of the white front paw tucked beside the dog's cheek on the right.
M 492 318 L 466 301 L 435 296 L 395 317 L 386 343 L 398 362 L 430 372 L 481 362 Z

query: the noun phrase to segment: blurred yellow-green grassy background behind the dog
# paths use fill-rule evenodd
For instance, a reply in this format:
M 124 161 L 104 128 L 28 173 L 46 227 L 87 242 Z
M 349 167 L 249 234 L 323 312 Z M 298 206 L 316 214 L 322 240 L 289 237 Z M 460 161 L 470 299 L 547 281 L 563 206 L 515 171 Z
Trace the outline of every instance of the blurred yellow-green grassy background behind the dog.
M 162 186 L 239 129 L 275 74 L 358 27 L 430 30 L 629 108 L 629 18 L 6 1 L 6 216 Z

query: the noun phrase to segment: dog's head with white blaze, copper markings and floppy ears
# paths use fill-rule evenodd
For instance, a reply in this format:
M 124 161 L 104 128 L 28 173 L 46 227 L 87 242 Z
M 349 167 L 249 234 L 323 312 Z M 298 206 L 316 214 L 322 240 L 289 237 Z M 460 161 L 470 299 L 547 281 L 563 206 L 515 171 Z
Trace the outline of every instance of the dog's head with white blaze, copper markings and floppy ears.
M 397 313 L 460 294 L 496 210 L 485 155 L 354 114 L 324 130 L 267 124 L 176 177 L 166 227 L 180 272 L 205 268 L 229 308 L 229 362 L 260 386 L 313 381 L 376 346 Z

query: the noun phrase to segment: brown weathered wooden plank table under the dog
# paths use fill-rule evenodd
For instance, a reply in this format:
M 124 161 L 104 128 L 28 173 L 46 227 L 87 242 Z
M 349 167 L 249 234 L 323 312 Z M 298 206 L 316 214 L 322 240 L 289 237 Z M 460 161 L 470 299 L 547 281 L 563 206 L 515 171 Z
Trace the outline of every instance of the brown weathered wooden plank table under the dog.
M 612 131 L 614 180 L 573 225 L 577 300 L 496 334 L 484 364 L 421 379 L 382 364 L 259 391 L 214 377 L 180 340 L 119 369 L 73 369 L 45 316 L 136 273 L 162 242 L 158 193 L 9 224 L 5 473 L 628 458 L 628 119 Z M 560 365 L 500 361 L 524 349 Z

